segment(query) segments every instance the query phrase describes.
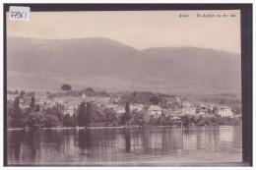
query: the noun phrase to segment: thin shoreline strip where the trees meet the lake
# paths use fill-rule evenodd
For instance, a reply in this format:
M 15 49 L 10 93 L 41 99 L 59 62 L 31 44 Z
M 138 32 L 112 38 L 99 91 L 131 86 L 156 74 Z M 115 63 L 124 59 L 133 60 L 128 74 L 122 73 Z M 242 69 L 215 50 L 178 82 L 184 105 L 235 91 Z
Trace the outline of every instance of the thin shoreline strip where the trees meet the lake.
M 241 126 L 241 125 L 235 125 L 235 126 Z M 235 127 L 232 125 L 222 125 L 222 126 L 195 126 L 195 127 L 190 127 L 190 128 L 185 128 L 183 127 L 183 130 L 195 130 L 198 128 L 231 128 Z M 170 128 L 170 129 L 180 129 L 180 127 L 173 127 L 173 126 L 146 126 L 146 127 L 125 127 L 125 126 L 118 126 L 118 127 L 88 127 L 87 129 L 89 130 L 96 130 L 96 129 L 144 129 L 144 128 Z M 7 131 L 31 131 L 35 130 L 32 128 L 26 129 L 26 128 L 7 128 Z M 37 130 L 86 130 L 85 127 L 52 127 L 52 128 L 39 128 Z

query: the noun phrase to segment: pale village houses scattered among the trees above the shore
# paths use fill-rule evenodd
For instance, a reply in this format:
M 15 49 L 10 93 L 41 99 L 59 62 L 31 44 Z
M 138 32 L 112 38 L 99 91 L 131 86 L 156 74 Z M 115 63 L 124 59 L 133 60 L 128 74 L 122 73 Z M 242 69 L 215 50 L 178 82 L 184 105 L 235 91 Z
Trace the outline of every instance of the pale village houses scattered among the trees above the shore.
M 7 100 L 15 100 L 18 94 L 7 94 Z M 34 92 L 35 103 L 39 104 L 41 108 L 52 107 L 56 104 L 64 106 L 64 114 L 73 116 L 78 109 L 79 104 L 82 101 L 91 101 L 98 107 L 106 107 L 113 109 L 117 114 L 125 113 L 125 106 L 117 104 L 116 98 L 113 101 L 110 97 L 95 96 L 89 97 L 83 93 L 80 97 L 64 96 L 64 97 L 53 97 L 48 98 L 46 92 Z M 25 95 L 20 100 L 21 108 L 30 107 L 31 98 Z M 171 116 L 182 116 L 182 115 L 208 115 L 215 114 L 222 117 L 232 117 L 234 114 L 231 108 L 225 105 L 213 105 L 213 104 L 192 104 L 185 101 L 179 101 L 174 108 L 163 109 L 160 105 L 145 106 L 144 104 L 130 104 L 131 111 L 141 111 L 142 109 L 148 110 L 150 115 L 159 118 L 160 115 L 171 115 Z

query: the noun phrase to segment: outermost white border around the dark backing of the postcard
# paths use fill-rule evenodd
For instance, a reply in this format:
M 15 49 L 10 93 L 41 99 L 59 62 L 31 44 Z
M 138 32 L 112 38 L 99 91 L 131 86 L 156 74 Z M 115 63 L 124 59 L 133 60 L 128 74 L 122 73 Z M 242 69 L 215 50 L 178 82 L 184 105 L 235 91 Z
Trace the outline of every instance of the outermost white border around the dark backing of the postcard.
M 237 0 L 147 0 L 147 1 L 142 1 L 142 0 L 111 0 L 111 1 L 103 1 L 103 0 L 3 0 L 3 2 L 1 3 L 1 7 L 0 7 L 0 13 L 3 14 L 3 4 L 4 3 L 253 3 L 253 0 L 243 0 L 243 1 L 237 1 Z M 254 7 L 253 7 L 253 11 L 254 11 Z M 0 108 L 2 109 L 0 113 L 1 114 L 1 120 L 0 120 L 0 127 L 3 127 L 3 15 L 1 15 L 2 17 L 0 18 L 0 23 L 1 23 L 1 28 L 0 31 L 2 33 L 0 33 L 1 35 L 1 50 L 0 53 L 2 55 L 2 59 L 0 60 L 1 64 L 0 64 L 0 75 L 2 76 L 2 79 L 0 81 Z M 253 17 L 253 23 L 255 22 L 255 16 Z M 253 36 L 253 40 L 254 40 L 254 36 Z M 253 45 L 254 46 L 254 45 Z M 253 65 L 255 65 L 255 60 L 253 62 Z M 256 71 L 253 71 L 253 80 L 256 79 Z M 253 92 L 253 96 L 255 96 L 255 92 Z M 253 101 L 253 105 L 256 105 L 256 101 Z M 253 116 L 253 122 L 255 122 L 256 116 Z M 254 128 L 255 130 L 255 128 Z M 253 137 L 256 136 L 255 131 L 253 131 Z M 0 131 L 0 137 L 2 137 L 3 139 L 3 131 Z M 253 140 L 254 141 L 254 140 Z M 256 143 L 256 142 L 254 142 Z M 254 145 L 254 144 L 253 144 Z M 49 169 L 56 169 L 56 170 L 70 170 L 70 168 L 73 167 L 3 167 L 3 140 L 0 141 L 0 153 L 2 153 L 2 156 L 0 155 L 0 162 L 1 162 L 1 168 L 3 169 L 34 169 L 34 168 L 49 168 Z M 255 146 L 253 146 L 253 153 L 255 153 Z M 253 156 L 255 156 L 253 154 Z M 254 160 L 254 159 L 253 159 Z M 255 166 L 256 162 L 253 161 L 253 165 Z M 102 167 L 76 167 L 76 168 L 80 168 L 80 169 L 101 169 Z M 253 169 L 253 167 L 107 167 L 107 168 L 103 168 L 103 169 L 108 169 L 108 170 L 113 170 L 113 169 L 129 169 L 129 168 L 133 168 L 133 169 L 140 169 L 140 170 L 152 170 L 152 169 L 216 169 L 216 168 L 220 168 L 220 169 Z

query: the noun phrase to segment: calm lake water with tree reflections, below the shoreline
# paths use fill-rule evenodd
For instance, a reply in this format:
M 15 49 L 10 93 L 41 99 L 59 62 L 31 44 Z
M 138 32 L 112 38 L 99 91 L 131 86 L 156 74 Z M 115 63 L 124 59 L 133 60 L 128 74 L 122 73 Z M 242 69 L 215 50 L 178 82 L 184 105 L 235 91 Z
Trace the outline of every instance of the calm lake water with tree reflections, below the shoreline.
M 241 127 L 55 129 L 7 133 L 14 164 L 160 164 L 241 162 Z

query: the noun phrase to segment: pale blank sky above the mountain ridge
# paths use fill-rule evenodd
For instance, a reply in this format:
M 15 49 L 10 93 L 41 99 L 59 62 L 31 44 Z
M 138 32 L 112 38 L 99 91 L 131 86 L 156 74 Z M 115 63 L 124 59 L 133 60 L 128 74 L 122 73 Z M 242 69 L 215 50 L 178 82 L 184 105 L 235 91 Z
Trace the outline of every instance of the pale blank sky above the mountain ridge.
M 189 18 L 180 18 L 179 14 L 188 14 Z M 214 14 L 215 18 L 197 18 L 197 14 Z M 222 17 L 217 18 L 217 14 Z M 240 13 L 238 10 L 32 12 L 28 22 L 7 18 L 7 35 L 47 39 L 99 36 L 137 49 L 195 46 L 240 53 Z

